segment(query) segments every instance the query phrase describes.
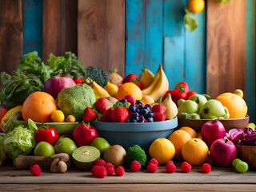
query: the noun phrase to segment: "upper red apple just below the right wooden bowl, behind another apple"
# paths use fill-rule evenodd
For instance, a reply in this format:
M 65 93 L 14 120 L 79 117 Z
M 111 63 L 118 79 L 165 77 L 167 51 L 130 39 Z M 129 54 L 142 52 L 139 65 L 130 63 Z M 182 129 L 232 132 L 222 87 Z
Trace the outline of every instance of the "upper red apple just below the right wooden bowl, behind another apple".
M 201 136 L 210 146 L 218 138 L 224 138 L 226 135 L 225 127 L 218 120 L 206 122 L 201 129 Z

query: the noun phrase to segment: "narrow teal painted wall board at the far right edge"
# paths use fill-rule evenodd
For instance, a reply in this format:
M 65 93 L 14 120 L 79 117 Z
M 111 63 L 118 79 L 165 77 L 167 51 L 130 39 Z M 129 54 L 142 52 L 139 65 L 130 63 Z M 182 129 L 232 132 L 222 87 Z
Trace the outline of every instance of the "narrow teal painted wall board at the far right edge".
M 256 122 L 256 1 L 246 0 L 246 104 L 250 122 Z

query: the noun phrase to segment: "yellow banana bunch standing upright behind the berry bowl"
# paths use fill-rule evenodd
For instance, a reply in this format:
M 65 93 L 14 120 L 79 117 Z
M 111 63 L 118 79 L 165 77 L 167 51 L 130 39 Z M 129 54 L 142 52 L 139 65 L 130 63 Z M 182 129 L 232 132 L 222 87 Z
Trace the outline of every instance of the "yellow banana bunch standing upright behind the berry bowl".
M 165 72 L 162 70 L 162 64 L 159 65 L 158 71 L 154 76 L 153 82 L 145 90 L 142 90 L 143 95 L 148 95 L 156 101 L 162 95 L 166 94 L 169 89 L 169 82 Z

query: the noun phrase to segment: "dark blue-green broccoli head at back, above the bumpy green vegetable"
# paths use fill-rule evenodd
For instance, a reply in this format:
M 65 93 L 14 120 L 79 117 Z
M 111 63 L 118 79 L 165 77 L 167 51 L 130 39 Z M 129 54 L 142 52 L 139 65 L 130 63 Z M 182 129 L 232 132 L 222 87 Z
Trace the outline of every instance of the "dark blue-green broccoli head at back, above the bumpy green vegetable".
M 96 66 L 89 66 L 86 69 L 86 78 L 90 78 L 97 82 L 99 86 L 106 86 L 106 83 L 110 81 L 110 76 L 105 70 L 97 68 Z

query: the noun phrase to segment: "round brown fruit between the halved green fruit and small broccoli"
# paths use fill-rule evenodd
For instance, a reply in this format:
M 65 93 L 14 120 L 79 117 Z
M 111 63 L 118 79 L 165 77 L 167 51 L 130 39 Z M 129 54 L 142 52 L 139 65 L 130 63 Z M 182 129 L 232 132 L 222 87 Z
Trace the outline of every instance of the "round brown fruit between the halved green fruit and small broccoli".
M 103 155 L 105 162 L 111 162 L 114 167 L 122 166 L 125 158 L 126 150 L 119 145 L 110 146 Z

